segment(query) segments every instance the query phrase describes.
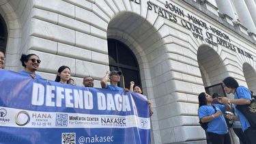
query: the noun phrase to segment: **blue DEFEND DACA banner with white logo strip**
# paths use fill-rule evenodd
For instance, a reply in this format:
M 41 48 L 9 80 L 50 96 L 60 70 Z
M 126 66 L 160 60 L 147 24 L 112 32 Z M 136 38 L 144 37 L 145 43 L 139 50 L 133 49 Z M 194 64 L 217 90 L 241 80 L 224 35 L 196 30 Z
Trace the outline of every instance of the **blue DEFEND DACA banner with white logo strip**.
M 150 143 L 138 93 L 56 83 L 0 70 L 0 143 Z

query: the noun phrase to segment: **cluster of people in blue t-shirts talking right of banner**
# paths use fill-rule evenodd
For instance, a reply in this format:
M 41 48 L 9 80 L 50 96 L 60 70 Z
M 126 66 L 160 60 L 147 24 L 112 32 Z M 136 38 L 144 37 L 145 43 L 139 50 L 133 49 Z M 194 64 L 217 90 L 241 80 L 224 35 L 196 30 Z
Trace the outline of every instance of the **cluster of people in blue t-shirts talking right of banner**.
M 248 118 L 236 109 L 238 105 L 248 105 L 251 103 L 253 98 L 252 92 L 246 87 L 238 85 L 238 82 L 233 77 L 225 78 L 222 85 L 225 93 L 232 93 L 234 95 L 233 99 L 219 96 L 215 93 L 215 96 L 210 96 L 204 92 L 198 96 L 199 120 L 201 123 L 208 125 L 208 128 L 205 129 L 208 143 L 231 144 L 231 134 L 229 134 L 231 130 L 236 133 L 240 143 L 256 143 L 256 128 L 252 127 Z M 235 122 L 229 125 L 230 121 Z

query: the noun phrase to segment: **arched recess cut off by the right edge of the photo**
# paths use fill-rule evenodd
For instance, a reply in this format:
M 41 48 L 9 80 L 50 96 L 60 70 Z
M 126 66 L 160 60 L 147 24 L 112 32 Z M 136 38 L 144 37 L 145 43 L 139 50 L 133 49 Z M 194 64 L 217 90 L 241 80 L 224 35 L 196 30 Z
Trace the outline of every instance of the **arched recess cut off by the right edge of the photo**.
M 244 63 L 242 65 L 242 70 L 244 72 L 244 78 L 248 85 L 248 89 L 256 93 L 256 72 L 249 63 Z

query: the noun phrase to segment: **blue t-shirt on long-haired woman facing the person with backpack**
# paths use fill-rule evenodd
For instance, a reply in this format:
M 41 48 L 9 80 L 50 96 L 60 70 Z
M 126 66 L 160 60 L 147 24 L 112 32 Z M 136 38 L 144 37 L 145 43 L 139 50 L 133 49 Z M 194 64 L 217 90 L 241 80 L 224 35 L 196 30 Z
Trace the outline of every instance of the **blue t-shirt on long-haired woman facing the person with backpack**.
M 225 113 L 225 106 L 221 104 L 214 104 L 216 107 L 216 111 L 222 111 Z M 203 105 L 200 106 L 198 110 L 199 119 L 203 117 L 208 117 L 210 115 L 214 115 L 215 111 L 212 105 Z M 227 124 L 223 115 L 219 115 L 218 117 L 214 117 L 208 123 L 208 128 L 206 132 L 212 132 L 216 134 L 227 134 Z

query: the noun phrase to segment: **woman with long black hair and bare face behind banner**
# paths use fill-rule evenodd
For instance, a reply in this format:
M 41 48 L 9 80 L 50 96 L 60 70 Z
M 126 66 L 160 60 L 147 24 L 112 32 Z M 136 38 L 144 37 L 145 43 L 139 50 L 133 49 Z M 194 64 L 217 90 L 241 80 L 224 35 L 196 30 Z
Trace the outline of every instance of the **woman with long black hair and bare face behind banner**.
M 59 83 L 68 84 L 68 81 L 70 80 L 70 73 L 71 70 L 68 66 L 59 67 L 55 81 Z

